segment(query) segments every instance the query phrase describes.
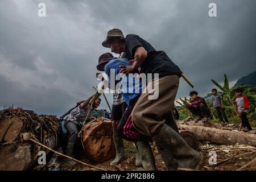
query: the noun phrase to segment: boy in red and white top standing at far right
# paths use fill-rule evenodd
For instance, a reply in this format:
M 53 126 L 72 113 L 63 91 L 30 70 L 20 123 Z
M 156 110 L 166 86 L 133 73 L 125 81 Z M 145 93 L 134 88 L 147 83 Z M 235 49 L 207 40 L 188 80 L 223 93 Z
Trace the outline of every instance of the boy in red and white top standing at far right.
M 242 122 L 242 130 L 247 132 L 251 129 L 249 120 L 247 118 L 247 114 L 249 113 L 249 100 L 246 96 L 242 96 L 243 92 L 242 89 L 238 88 L 235 90 L 235 93 L 237 95 L 236 98 L 236 110 L 238 117 L 241 118 Z

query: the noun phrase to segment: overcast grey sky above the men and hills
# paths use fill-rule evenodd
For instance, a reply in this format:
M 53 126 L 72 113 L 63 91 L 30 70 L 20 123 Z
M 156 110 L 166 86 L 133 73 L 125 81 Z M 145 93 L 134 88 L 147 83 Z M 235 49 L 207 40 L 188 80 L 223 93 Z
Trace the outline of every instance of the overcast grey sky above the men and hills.
M 38 16 L 40 2 L 46 17 Z M 208 15 L 212 2 L 217 17 Z M 255 0 L 1 0 L 0 108 L 60 115 L 89 97 L 111 28 L 166 51 L 205 96 L 210 79 L 222 82 L 226 73 L 234 83 L 256 70 L 255 17 Z M 181 79 L 177 98 L 191 90 Z

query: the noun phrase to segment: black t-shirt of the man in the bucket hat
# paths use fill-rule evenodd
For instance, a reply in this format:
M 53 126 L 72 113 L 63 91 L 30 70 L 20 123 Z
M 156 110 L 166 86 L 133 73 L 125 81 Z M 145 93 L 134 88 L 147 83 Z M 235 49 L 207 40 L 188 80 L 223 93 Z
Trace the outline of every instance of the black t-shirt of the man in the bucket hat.
M 126 54 L 129 60 L 134 59 L 134 51 L 138 46 L 147 51 L 147 58 L 141 65 L 141 73 L 158 73 L 159 77 L 168 75 L 180 75 L 181 70 L 172 62 L 164 51 L 156 51 L 150 43 L 138 35 L 129 34 L 125 38 Z

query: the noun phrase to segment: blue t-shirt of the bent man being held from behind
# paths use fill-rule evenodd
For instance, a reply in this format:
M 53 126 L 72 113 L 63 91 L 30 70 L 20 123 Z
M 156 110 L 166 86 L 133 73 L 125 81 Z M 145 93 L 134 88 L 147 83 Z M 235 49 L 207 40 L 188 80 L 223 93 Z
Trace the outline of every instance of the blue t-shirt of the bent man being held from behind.
M 120 65 L 130 65 L 127 58 L 117 59 L 114 57 L 112 60 L 109 61 L 108 64 L 105 65 L 105 72 L 109 77 L 109 85 L 111 85 L 111 69 L 114 70 L 114 76 L 116 77 L 122 68 Z M 125 99 L 125 102 L 129 105 L 130 101 L 133 98 L 137 97 L 139 94 L 142 93 L 144 86 L 142 82 L 133 76 L 121 76 L 120 80 L 115 80 L 114 85 L 117 85 L 118 82 L 121 81 L 120 88 L 122 90 L 122 97 Z

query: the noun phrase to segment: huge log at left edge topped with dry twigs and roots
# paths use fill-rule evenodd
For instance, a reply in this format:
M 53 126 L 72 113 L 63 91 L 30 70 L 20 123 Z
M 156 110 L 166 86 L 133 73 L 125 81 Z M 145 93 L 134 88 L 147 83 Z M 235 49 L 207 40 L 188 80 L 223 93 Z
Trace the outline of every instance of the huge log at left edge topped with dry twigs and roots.
M 22 171 L 37 162 L 38 152 L 48 150 L 23 140 L 24 133 L 31 133 L 47 147 L 56 148 L 59 122 L 52 115 L 37 115 L 33 111 L 5 109 L 0 111 L 0 170 Z

